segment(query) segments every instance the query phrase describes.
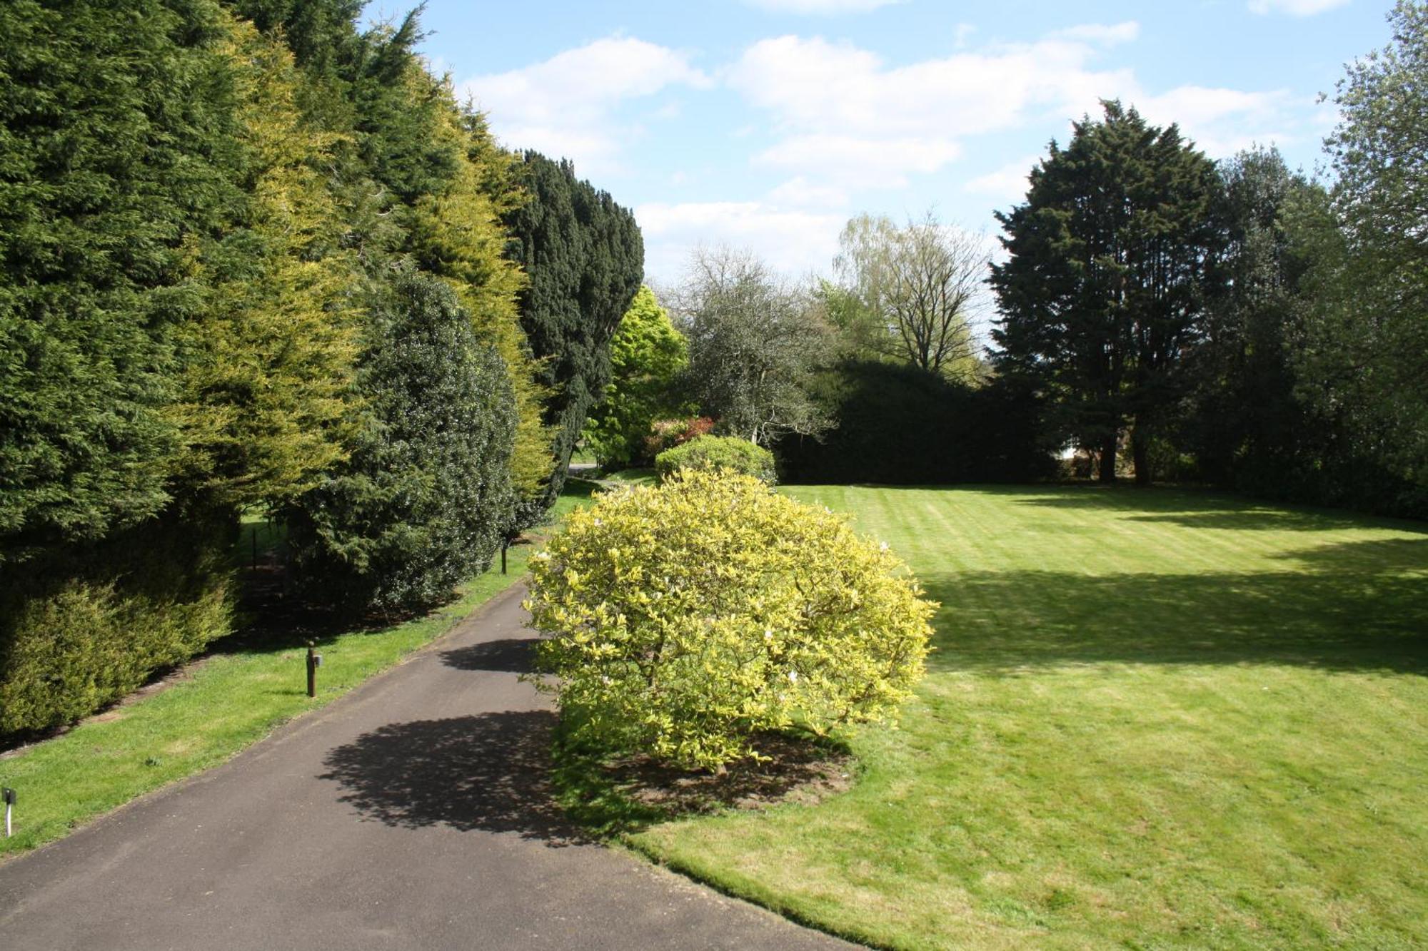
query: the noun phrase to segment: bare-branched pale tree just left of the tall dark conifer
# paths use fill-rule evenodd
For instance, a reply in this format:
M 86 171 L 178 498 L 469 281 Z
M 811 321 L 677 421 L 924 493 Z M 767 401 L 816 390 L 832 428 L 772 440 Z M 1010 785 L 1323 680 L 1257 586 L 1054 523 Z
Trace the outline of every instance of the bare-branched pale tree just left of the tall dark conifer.
M 835 267 L 857 298 L 861 341 L 931 373 L 974 373 L 971 320 L 988 264 L 978 236 L 931 213 L 901 228 L 864 214 L 848 221 L 840 244 Z

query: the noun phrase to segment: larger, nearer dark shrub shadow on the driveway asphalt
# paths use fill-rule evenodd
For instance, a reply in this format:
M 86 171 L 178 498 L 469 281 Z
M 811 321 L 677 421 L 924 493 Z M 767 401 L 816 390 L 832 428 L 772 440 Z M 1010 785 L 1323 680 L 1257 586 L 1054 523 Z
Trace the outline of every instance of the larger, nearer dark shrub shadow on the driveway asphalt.
M 555 714 L 544 710 L 416 720 L 327 754 L 320 778 L 366 818 L 398 828 L 516 832 L 550 847 L 591 841 L 550 781 Z

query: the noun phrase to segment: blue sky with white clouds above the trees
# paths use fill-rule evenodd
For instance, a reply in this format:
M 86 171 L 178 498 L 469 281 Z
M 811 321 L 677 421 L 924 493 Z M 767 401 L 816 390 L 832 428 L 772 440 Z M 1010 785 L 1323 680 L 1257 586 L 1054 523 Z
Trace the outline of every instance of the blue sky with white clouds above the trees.
M 1312 171 L 1389 0 L 431 0 L 423 51 L 497 137 L 633 207 L 647 274 L 698 243 L 828 271 L 861 213 L 997 234 L 1047 141 L 1120 97 L 1211 157 Z M 406 7 L 368 9 L 373 16 Z

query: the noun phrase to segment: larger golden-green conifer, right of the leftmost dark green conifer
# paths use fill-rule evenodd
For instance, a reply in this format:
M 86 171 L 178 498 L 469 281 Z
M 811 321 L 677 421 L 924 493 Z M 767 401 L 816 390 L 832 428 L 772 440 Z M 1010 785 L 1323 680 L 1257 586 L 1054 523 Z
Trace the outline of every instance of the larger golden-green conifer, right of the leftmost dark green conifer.
M 180 331 L 184 433 L 180 480 L 221 504 L 283 500 L 343 458 L 358 318 L 356 266 L 324 178 L 337 136 L 303 121 L 291 53 L 230 20 L 220 54 L 236 94 L 240 221 L 196 241 L 208 284 Z

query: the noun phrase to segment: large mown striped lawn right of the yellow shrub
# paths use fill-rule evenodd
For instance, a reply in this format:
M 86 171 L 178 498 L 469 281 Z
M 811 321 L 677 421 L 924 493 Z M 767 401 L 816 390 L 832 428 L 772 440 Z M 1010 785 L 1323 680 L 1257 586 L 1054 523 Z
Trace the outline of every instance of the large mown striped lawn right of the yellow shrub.
M 907 948 L 1428 944 L 1428 533 L 1134 488 L 844 488 L 942 603 L 818 805 L 633 834 Z

